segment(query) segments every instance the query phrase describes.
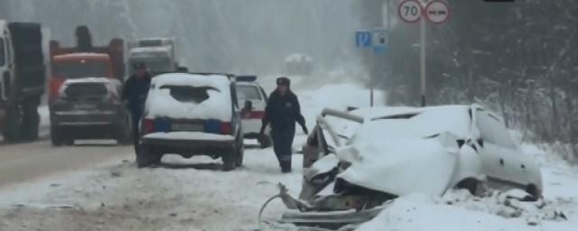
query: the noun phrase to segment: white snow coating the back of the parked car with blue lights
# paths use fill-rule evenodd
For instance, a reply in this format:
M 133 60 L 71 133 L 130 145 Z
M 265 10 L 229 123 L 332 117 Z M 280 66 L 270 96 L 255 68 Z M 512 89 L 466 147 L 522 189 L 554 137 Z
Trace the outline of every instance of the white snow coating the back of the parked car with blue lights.
M 228 122 L 232 115 L 231 81 L 224 75 L 168 73 L 155 77 L 145 103 L 146 118 L 218 119 Z M 206 88 L 208 98 L 182 102 L 172 97 L 171 89 L 163 86 Z

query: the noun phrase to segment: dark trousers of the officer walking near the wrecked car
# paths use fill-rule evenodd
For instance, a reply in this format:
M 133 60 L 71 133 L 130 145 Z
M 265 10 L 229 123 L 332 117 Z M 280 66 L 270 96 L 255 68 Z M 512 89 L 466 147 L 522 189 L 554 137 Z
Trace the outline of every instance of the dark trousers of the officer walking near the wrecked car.
M 289 126 L 284 129 L 273 129 L 271 131 L 271 138 L 273 139 L 273 149 L 281 171 L 291 171 L 291 154 L 293 140 L 295 136 L 295 126 Z

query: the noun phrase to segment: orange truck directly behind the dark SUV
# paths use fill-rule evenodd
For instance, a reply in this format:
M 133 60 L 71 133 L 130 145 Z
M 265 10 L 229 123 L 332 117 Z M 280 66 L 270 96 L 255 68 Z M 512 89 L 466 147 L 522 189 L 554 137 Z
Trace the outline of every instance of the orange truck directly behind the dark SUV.
M 49 80 L 49 103 L 59 94 L 59 88 L 67 79 L 125 78 L 125 42 L 113 39 L 108 46 L 89 49 L 61 47 L 60 42 L 50 42 L 51 78 Z

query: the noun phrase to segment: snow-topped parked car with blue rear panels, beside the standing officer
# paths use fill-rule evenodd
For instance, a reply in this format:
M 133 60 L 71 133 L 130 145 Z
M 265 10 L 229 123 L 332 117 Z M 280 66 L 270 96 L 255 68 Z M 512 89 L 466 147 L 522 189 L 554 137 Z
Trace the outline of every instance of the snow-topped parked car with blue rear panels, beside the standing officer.
M 151 82 L 136 151 L 139 167 L 163 154 L 209 155 L 223 170 L 243 164 L 243 132 L 235 80 L 210 73 L 166 73 Z

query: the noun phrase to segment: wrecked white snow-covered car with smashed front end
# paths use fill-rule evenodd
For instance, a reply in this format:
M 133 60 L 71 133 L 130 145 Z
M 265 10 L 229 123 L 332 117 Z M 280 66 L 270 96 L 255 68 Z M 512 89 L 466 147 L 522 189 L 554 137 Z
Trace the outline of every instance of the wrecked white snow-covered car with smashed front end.
M 301 211 L 367 210 L 453 188 L 477 196 L 488 188 L 523 189 L 528 200 L 542 197 L 536 162 L 498 116 L 478 105 L 326 109 L 303 152 L 299 199 L 281 193 L 288 208 Z M 284 220 L 298 223 L 300 216 L 287 213 Z

